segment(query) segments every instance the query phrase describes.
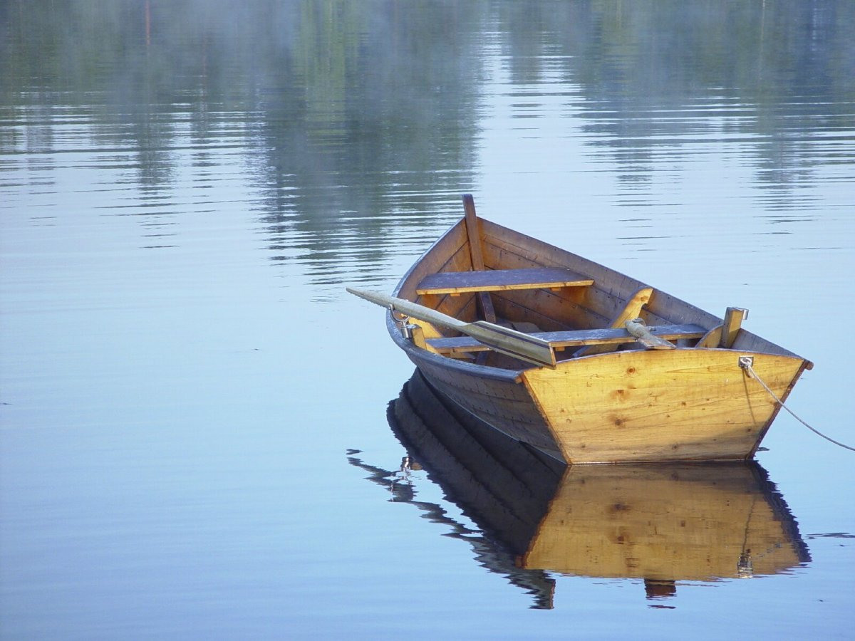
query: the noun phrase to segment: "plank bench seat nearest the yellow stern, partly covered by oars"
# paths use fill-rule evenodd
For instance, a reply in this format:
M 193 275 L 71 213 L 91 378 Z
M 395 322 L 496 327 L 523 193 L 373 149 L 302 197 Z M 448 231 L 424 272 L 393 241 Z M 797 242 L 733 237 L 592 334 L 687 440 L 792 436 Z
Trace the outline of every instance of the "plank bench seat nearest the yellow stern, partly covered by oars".
M 654 336 L 666 340 L 679 338 L 701 338 L 706 330 L 699 325 L 657 325 L 649 327 Z M 635 337 L 626 329 L 586 329 L 571 332 L 534 332 L 535 338 L 549 341 L 551 347 L 578 347 L 580 345 L 619 345 L 633 343 Z M 489 348 L 479 343 L 475 338 L 460 336 L 457 338 L 428 338 L 427 344 L 440 354 L 459 354 L 463 352 L 482 351 Z

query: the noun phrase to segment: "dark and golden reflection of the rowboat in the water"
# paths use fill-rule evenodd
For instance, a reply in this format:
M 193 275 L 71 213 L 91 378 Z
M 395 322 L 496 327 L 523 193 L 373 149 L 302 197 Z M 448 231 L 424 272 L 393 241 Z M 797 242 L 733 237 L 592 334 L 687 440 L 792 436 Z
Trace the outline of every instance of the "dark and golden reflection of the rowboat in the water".
M 547 572 L 643 579 L 649 599 L 679 581 L 783 573 L 810 561 L 793 515 L 756 462 L 564 467 L 439 397 L 416 371 L 390 403 L 408 456 L 389 472 L 351 456 L 392 500 L 415 504 L 472 544 L 488 569 L 551 608 Z M 473 520 L 472 532 L 415 499 L 411 470 L 427 470 Z

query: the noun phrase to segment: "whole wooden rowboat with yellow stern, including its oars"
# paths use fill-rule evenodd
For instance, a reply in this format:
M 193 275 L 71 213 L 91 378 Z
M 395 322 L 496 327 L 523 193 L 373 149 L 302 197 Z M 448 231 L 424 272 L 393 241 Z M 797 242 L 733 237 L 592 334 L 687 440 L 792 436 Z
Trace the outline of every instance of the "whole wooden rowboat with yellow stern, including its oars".
M 431 385 L 567 463 L 752 458 L 811 362 L 610 268 L 466 215 L 384 297 Z M 415 303 L 415 304 L 414 304 Z M 762 381 L 762 383 L 761 383 Z

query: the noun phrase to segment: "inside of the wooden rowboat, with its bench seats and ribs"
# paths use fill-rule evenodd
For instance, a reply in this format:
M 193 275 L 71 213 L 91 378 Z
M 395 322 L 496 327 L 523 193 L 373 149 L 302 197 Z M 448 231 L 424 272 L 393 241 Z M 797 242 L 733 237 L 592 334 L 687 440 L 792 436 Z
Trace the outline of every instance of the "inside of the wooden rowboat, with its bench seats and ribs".
M 727 348 L 740 333 L 744 309 L 728 308 L 722 321 L 622 273 L 478 218 L 471 197 L 464 197 L 464 206 L 463 220 L 414 266 L 399 297 L 460 321 L 488 321 L 542 338 L 557 361 L 645 349 L 627 331 L 627 321 L 635 319 L 653 338 L 668 342 L 654 349 Z M 475 338 L 410 321 L 424 349 L 492 367 L 521 367 Z

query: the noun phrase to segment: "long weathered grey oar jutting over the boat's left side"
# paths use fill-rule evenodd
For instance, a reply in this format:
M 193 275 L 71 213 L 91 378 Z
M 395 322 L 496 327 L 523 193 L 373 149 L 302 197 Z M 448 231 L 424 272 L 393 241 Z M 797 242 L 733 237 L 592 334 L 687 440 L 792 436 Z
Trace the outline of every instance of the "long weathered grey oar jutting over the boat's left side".
M 534 336 L 486 321 L 475 321 L 474 323 L 458 321 L 453 316 L 445 315 L 436 309 L 430 309 L 418 303 L 410 303 L 403 298 L 378 294 L 375 291 L 366 291 L 355 287 L 348 287 L 347 291 L 367 301 L 377 303 L 381 307 L 393 309 L 420 321 L 428 321 L 434 325 L 457 330 L 457 332 L 475 338 L 491 350 L 513 356 L 521 361 L 545 365 L 550 368 L 555 367 L 555 352 L 552 351 L 548 341 L 540 338 L 534 338 Z

